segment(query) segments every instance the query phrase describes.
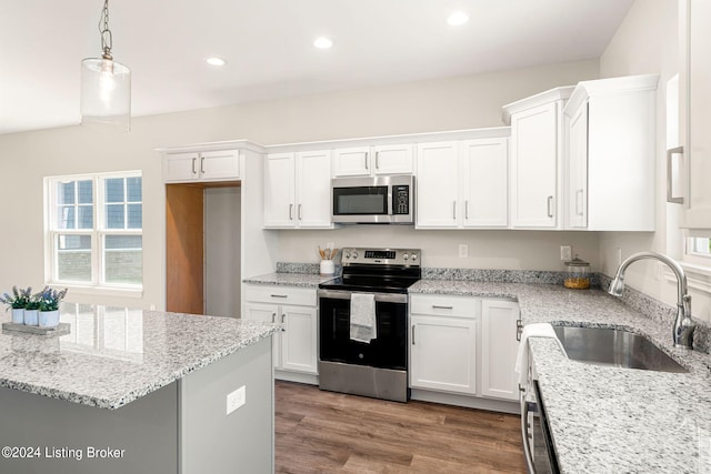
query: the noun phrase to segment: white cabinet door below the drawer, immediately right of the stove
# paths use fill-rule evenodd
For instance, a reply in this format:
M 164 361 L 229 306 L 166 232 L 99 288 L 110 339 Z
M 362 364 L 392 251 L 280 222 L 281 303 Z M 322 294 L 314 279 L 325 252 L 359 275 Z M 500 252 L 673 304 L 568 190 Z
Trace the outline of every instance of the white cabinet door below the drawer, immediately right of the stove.
M 410 317 L 410 386 L 474 394 L 477 320 Z

